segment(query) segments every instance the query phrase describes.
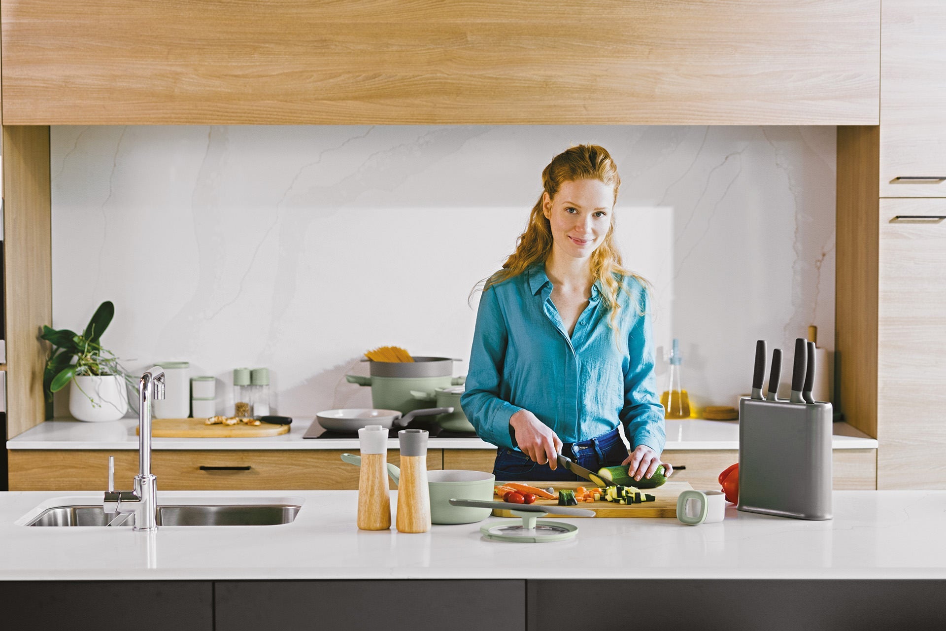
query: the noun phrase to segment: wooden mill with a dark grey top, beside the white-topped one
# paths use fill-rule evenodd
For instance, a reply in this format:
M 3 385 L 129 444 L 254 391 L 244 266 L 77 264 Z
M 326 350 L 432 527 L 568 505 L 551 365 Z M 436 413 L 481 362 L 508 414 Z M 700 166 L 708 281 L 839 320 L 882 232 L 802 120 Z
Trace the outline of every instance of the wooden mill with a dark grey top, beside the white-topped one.
M 427 429 L 401 429 L 401 479 L 397 482 L 397 530 L 430 530 L 430 490 L 427 485 Z

